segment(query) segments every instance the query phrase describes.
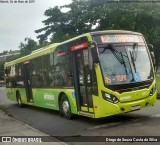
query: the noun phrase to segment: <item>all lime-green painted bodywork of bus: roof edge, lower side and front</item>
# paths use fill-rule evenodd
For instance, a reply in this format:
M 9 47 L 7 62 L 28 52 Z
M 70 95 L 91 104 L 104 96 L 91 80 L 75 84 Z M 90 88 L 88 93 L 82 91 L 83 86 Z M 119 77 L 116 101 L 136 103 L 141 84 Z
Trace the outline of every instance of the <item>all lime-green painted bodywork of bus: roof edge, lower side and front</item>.
M 22 63 L 27 60 L 36 58 L 38 56 L 54 52 L 54 50 L 58 46 L 71 42 L 73 40 L 76 40 L 78 38 L 81 38 L 82 36 L 87 36 L 88 41 L 92 41 L 91 34 L 87 33 L 87 34 L 78 36 L 74 39 L 71 39 L 69 41 L 65 41 L 63 43 L 52 44 L 44 49 L 41 49 L 40 51 L 35 51 L 28 56 L 6 63 L 5 67 L 9 67 L 17 63 Z M 150 95 L 150 92 L 156 83 L 155 77 L 152 84 L 148 88 L 119 93 L 117 91 L 112 91 L 104 86 L 104 80 L 102 77 L 100 65 L 94 64 L 94 67 L 95 67 L 96 78 L 97 78 L 98 96 L 92 95 L 93 109 L 90 108 L 90 110 L 93 110 L 93 115 L 88 117 L 93 117 L 93 118 L 106 117 L 106 116 L 111 116 L 115 114 L 138 110 L 143 107 L 147 107 L 155 104 L 157 92 L 155 91 L 153 95 Z M 152 64 L 152 67 L 153 67 L 153 64 Z M 27 102 L 25 88 L 7 88 L 7 97 L 10 100 L 16 101 L 17 92 L 20 93 L 23 104 L 39 106 L 39 107 L 54 109 L 54 110 L 59 110 L 59 99 L 62 96 L 62 94 L 65 94 L 69 99 L 71 112 L 73 114 L 80 114 L 80 112 L 77 111 L 77 104 L 76 104 L 74 89 L 32 88 L 32 95 L 33 95 L 32 103 Z M 119 102 L 111 103 L 105 100 L 103 98 L 102 92 L 114 95 L 119 100 Z M 89 111 L 89 112 L 92 112 L 92 111 Z

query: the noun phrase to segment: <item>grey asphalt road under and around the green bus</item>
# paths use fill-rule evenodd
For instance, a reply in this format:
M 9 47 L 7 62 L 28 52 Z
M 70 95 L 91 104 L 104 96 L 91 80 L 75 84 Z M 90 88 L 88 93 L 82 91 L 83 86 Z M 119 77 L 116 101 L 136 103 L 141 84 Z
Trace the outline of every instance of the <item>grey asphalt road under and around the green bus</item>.
M 51 136 L 160 136 L 160 100 L 155 106 L 140 111 L 102 119 L 78 117 L 66 120 L 57 111 L 26 106 L 19 108 L 6 99 L 0 88 L 0 106 L 17 120 Z

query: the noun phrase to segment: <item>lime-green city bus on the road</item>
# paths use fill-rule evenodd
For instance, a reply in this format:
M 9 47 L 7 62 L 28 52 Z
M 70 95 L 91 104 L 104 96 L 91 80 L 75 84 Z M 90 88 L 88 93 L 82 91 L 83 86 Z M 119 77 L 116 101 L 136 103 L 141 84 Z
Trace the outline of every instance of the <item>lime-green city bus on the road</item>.
M 152 57 L 142 34 L 98 31 L 5 63 L 7 96 L 24 104 L 101 118 L 156 102 Z

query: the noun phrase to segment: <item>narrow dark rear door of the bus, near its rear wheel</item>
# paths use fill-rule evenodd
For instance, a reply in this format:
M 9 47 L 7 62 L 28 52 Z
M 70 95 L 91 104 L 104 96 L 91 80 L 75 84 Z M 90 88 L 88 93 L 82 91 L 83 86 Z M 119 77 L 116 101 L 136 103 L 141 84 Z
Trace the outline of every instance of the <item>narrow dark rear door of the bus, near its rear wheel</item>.
M 33 102 L 32 88 L 30 84 L 30 72 L 29 72 L 29 61 L 24 62 L 23 64 L 23 75 L 24 75 L 24 85 L 26 91 L 27 102 Z

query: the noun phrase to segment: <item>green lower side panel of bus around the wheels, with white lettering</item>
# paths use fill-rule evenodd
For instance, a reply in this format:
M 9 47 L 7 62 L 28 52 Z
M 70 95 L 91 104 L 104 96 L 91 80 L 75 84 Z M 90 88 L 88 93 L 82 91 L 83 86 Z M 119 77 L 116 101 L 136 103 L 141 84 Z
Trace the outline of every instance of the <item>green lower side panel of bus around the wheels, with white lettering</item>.
M 27 97 L 25 89 L 22 88 L 7 88 L 7 97 L 10 100 L 16 101 L 16 93 L 19 92 L 21 95 L 21 100 L 23 104 L 59 110 L 58 99 L 60 94 L 66 94 L 71 105 L 71 110 L 73 114 L 77 114 L 76 100 L 74 94 L 74 89 L 45 89 L 37 88 L 32 89 L 33 93 L 33 103 L 27 102 Z

